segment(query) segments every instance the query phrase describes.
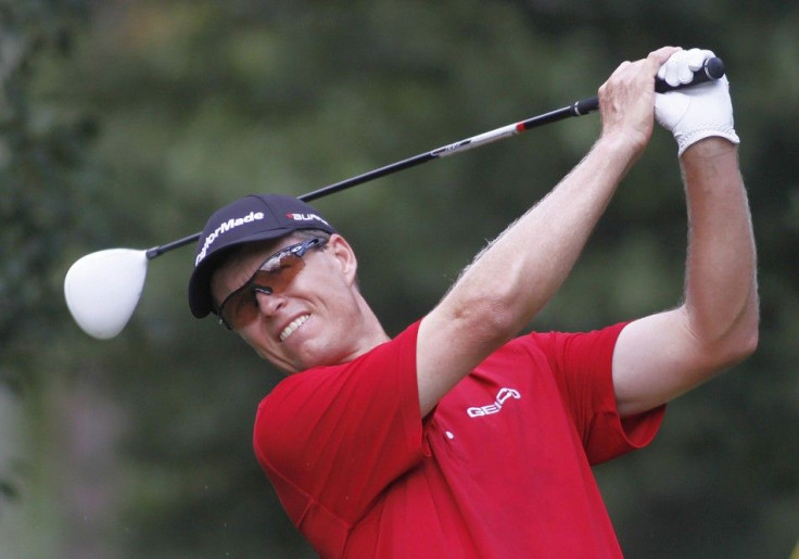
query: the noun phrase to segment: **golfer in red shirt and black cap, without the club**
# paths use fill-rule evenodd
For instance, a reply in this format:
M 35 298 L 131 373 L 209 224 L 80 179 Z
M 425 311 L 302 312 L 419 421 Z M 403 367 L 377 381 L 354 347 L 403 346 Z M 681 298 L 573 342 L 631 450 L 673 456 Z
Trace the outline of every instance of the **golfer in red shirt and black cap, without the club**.
M 352 247 L 313 207 L 252 195 L 210 218 L 191 310 L 216 314 L 286 372 L 258 407 L 254 448 L 320 556 L 621 556 L 592 465 L 647 445 L 669 401 L 758 341 L 726 78 L 654 92 L 656 75 L 686 81 L 710 55 L 668 47 L 621 64 L 599 89 L 589 153 L 393 339 L 358 290 Z M 656 117 L 677 141 L 685 182 L 682 304 L 592 332 L 519 336 Z

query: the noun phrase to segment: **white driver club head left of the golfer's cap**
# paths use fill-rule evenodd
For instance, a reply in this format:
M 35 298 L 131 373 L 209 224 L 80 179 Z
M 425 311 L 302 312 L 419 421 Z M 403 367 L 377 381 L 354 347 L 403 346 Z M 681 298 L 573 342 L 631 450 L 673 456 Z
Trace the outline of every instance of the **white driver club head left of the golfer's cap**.
M 109 249 L 72 265 L 64 278 L 64 296 L 84 332 L 107 340 L 125 328 L 144 287 L 147 263 L 147 251 Z

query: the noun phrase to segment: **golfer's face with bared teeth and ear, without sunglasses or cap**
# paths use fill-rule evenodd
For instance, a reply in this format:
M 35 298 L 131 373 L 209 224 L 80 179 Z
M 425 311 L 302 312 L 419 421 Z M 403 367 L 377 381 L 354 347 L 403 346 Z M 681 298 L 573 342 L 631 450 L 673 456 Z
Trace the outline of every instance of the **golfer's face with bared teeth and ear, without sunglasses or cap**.
M 289 236 L 237 251 L 212 276 L 216 304 L 246 283 L 267 257 L 303 240 Z M 359 353 L 352 249 L 333 234 L 322 249 L 308 250 L 302 258 L 304 267 L 281 291 L 252 292 L 257 312 L 237 330 L 258 355 L 289 373 L 343 363 Z

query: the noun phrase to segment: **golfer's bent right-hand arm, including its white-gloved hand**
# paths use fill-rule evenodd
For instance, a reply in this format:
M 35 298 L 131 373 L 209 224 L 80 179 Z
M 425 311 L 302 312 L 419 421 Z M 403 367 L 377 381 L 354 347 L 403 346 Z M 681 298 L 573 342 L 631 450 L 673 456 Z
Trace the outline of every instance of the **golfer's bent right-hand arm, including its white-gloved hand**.
M 677 139 L 686 190 L 684 302 L 621 332 L 613 352 L 621 416 L 671 401 L 744 359 L 758 343 L 754 238 L 727 82 L 693 90 L 693 98 L 658 107 L 659 122 Z

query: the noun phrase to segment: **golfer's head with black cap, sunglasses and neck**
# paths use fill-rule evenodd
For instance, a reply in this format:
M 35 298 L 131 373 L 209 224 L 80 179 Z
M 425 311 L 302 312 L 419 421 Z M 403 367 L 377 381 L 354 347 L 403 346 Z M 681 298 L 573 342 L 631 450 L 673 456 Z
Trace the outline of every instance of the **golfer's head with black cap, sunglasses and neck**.
M 310 206 L 246 196 L 215 213 L 196 249 L 189 304 L 219 315 L 262 357 L 296 372 L 384 341 L 350 244 Z

